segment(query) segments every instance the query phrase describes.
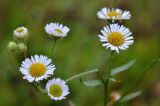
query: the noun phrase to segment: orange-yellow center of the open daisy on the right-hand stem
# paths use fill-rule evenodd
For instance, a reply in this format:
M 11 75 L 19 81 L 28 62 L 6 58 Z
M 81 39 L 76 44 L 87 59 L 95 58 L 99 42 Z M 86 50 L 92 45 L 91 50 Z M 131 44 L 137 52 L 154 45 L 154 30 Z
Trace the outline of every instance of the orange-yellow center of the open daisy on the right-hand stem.
M 114 46 L 120 46 L 124 43 L 125 38 L 120 32 L 111 32 L 109 33 L 108 42 L 111 43 Z

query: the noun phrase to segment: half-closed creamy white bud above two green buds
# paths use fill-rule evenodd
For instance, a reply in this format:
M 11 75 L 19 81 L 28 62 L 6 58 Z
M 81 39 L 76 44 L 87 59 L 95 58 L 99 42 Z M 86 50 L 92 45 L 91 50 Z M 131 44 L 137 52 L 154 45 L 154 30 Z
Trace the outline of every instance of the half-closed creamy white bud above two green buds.
M 14 30 L 14 37 L 16 39 L 26 39 L 28 37 L 28 29 L 25 27 L 19 27 Z

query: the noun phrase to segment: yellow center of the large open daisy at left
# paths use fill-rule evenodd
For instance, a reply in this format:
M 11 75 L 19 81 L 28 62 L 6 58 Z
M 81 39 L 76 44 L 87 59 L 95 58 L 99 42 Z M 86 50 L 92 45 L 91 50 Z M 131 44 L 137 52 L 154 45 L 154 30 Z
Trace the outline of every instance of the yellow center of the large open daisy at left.
M 34 63 L 29 68 L 29 73 L 33 77 L 40 77 L 43 76 L 46 72 L 46 67 L 42 63 Z

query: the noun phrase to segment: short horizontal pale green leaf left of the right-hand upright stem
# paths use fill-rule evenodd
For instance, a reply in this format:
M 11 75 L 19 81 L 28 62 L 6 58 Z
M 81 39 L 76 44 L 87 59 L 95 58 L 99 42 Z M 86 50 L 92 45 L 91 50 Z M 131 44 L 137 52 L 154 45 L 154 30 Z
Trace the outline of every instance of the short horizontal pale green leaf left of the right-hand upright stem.
M 89 87 L 96 87 L 103 84 L 101 80 L 82 81 L 82 79 L 80 79 L 80 82 Z

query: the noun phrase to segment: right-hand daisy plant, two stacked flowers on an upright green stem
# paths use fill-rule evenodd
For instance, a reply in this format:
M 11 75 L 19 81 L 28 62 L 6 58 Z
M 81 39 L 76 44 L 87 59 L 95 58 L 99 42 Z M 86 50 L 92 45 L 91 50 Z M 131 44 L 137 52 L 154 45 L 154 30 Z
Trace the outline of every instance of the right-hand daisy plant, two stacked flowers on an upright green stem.
M 102 8 L 100 11 L 97 12 L 97 16 L 100 19 L 108 20 L 111 22 L 109 25 L 106 25 L 102 30 L 101 34 L 98 35 L 100 38 L 100 42 L 102 42 L 102 46 L 110 51 L 110 59 L 109 59 L 109 67 L 108 73 L 106 75 L 106 79 L 103 79 L 101 75 L 99 75 L 103 85 L 104 85 L 104 106 L 110 106 L 119 101 L 123 96 L 119 93 L 111 93 L 110 100 L 108 99 L 108 89 L 109 89 L 109 81 L 117 82 L 114 78 L 114 75 L 124 71 L 124 69 L 117 68 L 113 70 L 111 67 L 111 57 L 113 55 L 113 51 L 119 53 L 121 50 L 126 50 L 129 48 L 130 45 L 133 44 L 133 36 L 132 32 L 129 28 L 125 27 L 124 25 L 120 24 L 123 20 L 129 20 L 131 18 L 131 14 L 129 11 L 123 11 L 119 8 Z M 125 66 L 129 67 L 134 62 L 130 62 Z M 128 97 L 127 97 L 128 98 Z

